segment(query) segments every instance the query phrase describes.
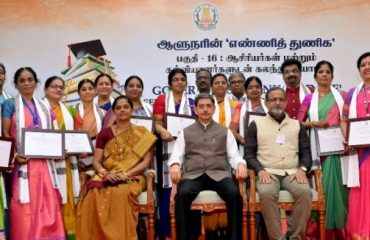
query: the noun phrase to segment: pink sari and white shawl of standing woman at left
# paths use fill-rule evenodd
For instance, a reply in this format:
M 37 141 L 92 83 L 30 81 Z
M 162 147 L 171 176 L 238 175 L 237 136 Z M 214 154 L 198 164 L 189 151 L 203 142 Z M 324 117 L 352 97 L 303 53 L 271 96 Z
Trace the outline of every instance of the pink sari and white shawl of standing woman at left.
M 35 128 L 31 111 L 38 115 L 38 119 L 41 119 L 37 122 L 40 128 L 50 129 L 48 110 L 39 100 L 34 99 L 33 101 L 35 107 L 31 110 L 21 104 L 20 96 L 3 105 L 3 107 L 7 106 L 6 117 L 12 122 L 10 135 L 18 142 L 21 140 L 22 127 Z M 42 120 L 43 118 L 45 120 Z M 19 146 L 17 143 L 18 149 Z M 65 239 L 60 195 L 49 173 L 48 161 L 32 158 L 27 164 L 16 165 L 14 169 L 10 205 L 12 239 Z M 25 168 L 26 171 L 19 174 L 19 171 Z M 22 179 L 24 176 L 27 177 L 27 181 Z

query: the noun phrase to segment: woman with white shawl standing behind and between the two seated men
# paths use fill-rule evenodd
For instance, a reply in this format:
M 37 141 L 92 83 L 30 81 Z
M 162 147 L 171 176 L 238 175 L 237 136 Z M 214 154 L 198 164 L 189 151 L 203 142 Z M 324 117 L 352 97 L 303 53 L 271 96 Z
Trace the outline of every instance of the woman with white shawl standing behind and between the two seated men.
M 259 77 L 251 76 L 244 82 L 244 89 L 247 94 L 247 100 L 239 104 L 231 118 L 230 130 L 235 136 L 236 141 L 241 145 L 240 152 L 244 152 L 244 126 L 247 112 L 266 113 L 267 108 L 262 96 L 262 81 Z M 242 154 L 243 156 L 243 154 Z

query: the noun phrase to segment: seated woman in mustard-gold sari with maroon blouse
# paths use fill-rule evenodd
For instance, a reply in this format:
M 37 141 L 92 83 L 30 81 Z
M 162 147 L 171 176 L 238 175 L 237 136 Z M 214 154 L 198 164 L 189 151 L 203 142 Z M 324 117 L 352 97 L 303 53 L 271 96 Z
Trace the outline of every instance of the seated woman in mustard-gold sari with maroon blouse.
M 113 102 L 116 123 L 97 137 L 94 169 L 77 206 L 77 239 L 137 239 L 138 196 L 145 189 L 156 137 L 130 122 L 133 104 Z M 85 196 L 84 196 L 85 195 Z

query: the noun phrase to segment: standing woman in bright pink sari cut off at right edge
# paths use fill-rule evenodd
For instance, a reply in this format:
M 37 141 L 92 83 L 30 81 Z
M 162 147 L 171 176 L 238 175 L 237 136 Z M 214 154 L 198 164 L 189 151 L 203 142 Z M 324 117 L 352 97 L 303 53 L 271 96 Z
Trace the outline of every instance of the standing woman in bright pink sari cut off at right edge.
M 370 116 L 370 52 L 357 60 L 361 83 L 349 90 L 343 106 L 342 130 L 347 131 L 349 118 Z M 360 147 L 352 151 L 348 160 L 349 190 L 347 233 L 351 239 L 370 238 L 370 148 Z M 351 164 L 352 163 L 352 164 Z M 356 171 L 357 170 L 357 171 Z M 350 178 L 351 177 L 351 178 Z

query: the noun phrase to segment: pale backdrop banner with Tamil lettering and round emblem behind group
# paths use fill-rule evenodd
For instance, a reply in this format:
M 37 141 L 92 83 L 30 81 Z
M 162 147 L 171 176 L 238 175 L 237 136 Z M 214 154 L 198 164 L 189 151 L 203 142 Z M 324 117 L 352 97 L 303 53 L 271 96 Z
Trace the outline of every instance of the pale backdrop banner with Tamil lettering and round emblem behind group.
M 348 90 L 360 81 L 358 56 L 370 50 L 368 0 L 2 0 L 0 10 L 0 62 L 13 95 L 16 69 L 35 69 L 41 96 L 47 77 L 63 77 L 67 45 L 93 39 L 102 41 L 121 84 L 130 75 L 143 79 L 150 103 L 168 90 L 174 67 L 188 73 L 189 94 L 201 67 L 257 75 L 266 90 L 283 84 L 279 68 L 288 58 L 303 63 L 302 80 L 311 85 L 315 64 L 332 62 L 333 84 Z

